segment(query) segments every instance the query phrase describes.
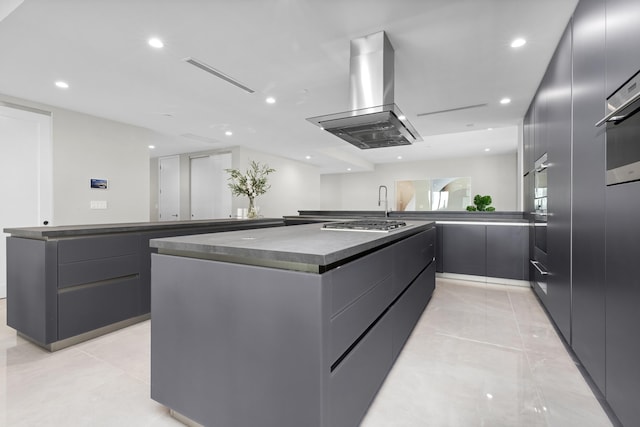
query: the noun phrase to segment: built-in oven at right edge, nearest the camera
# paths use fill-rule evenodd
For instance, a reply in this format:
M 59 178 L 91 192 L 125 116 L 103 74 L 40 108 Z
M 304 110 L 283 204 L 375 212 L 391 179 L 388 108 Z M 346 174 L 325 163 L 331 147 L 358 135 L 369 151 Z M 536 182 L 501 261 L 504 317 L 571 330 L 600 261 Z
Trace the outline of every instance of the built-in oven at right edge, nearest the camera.
M 606 100 L 607 185 L 640 181 L 640 71 Z

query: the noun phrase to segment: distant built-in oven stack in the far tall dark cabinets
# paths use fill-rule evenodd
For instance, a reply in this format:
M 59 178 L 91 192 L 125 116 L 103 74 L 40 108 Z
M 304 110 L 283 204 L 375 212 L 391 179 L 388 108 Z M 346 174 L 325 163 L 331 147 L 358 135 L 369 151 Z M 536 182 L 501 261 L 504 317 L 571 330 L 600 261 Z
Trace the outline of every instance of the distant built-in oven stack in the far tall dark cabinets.
M 533 254 L 531 265 L 533 282 L 543 293 L 547 293 L 547 153 L 535 162 L 533 169 Z

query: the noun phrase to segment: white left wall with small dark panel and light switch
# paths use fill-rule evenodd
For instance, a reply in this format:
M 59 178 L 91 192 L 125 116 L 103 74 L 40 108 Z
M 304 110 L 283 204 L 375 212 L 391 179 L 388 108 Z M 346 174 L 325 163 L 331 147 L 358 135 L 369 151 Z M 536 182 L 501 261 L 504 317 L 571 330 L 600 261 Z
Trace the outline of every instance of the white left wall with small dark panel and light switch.
M 5 95 L 0 100 L 52 112 L 54 225 L 149 220 L 149 149 L 157 133 Z M 91 190 L 91 178 L 109 180 Z M 89 209 L 92 200 L 107 209 Z

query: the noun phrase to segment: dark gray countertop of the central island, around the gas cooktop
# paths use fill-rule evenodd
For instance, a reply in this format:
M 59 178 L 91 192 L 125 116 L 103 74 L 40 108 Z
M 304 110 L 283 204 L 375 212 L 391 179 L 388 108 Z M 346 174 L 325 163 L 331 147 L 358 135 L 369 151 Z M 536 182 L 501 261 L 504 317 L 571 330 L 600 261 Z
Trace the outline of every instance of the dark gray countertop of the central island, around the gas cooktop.
M 431 221 L 406 223 L 387 233 L 323 230 L 321 224 L 305 224 L 153 239 L 150 245 L 159 253 L 195 258 L 328 266 L 435 226 Z

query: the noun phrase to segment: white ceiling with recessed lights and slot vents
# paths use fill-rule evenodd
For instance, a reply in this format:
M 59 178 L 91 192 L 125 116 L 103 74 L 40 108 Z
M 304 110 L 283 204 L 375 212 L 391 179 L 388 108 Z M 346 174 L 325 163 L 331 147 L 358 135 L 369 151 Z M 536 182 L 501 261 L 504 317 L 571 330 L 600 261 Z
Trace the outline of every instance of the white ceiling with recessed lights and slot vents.
M 241 145 L 331 173 L 514 152 L 517 126 L 577 0 L 20 3 L 0 0 L 0 19 L 8 13 L 0 22 L 0 93 L 167 135 L 152 156 Z M 395 103 L 424 141 L 359 150 L 306 118 L 350 109 L 349 41 L 381 30 L 395 49 Z M 151 48 L 152 36 L 165 47 Z M 511 48 L 516 37 L 527 44 Z M 265 103 L 267 96 L 277 102 Z M 503 97 L 511 104 L 501 105 Z M 478 104 L 486 106 L 418 116 Z

